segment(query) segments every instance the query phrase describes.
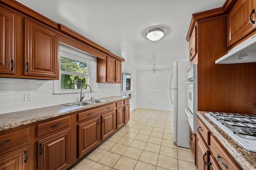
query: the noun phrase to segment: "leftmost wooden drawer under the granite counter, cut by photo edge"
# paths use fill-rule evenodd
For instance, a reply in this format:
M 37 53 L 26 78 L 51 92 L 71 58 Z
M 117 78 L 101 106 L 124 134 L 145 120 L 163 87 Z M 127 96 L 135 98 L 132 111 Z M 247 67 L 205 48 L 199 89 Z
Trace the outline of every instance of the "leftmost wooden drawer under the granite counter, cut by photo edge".
M 28 142 L 28 128 L 0 136 L 0 153 L 3 150 L 21 147 Z

